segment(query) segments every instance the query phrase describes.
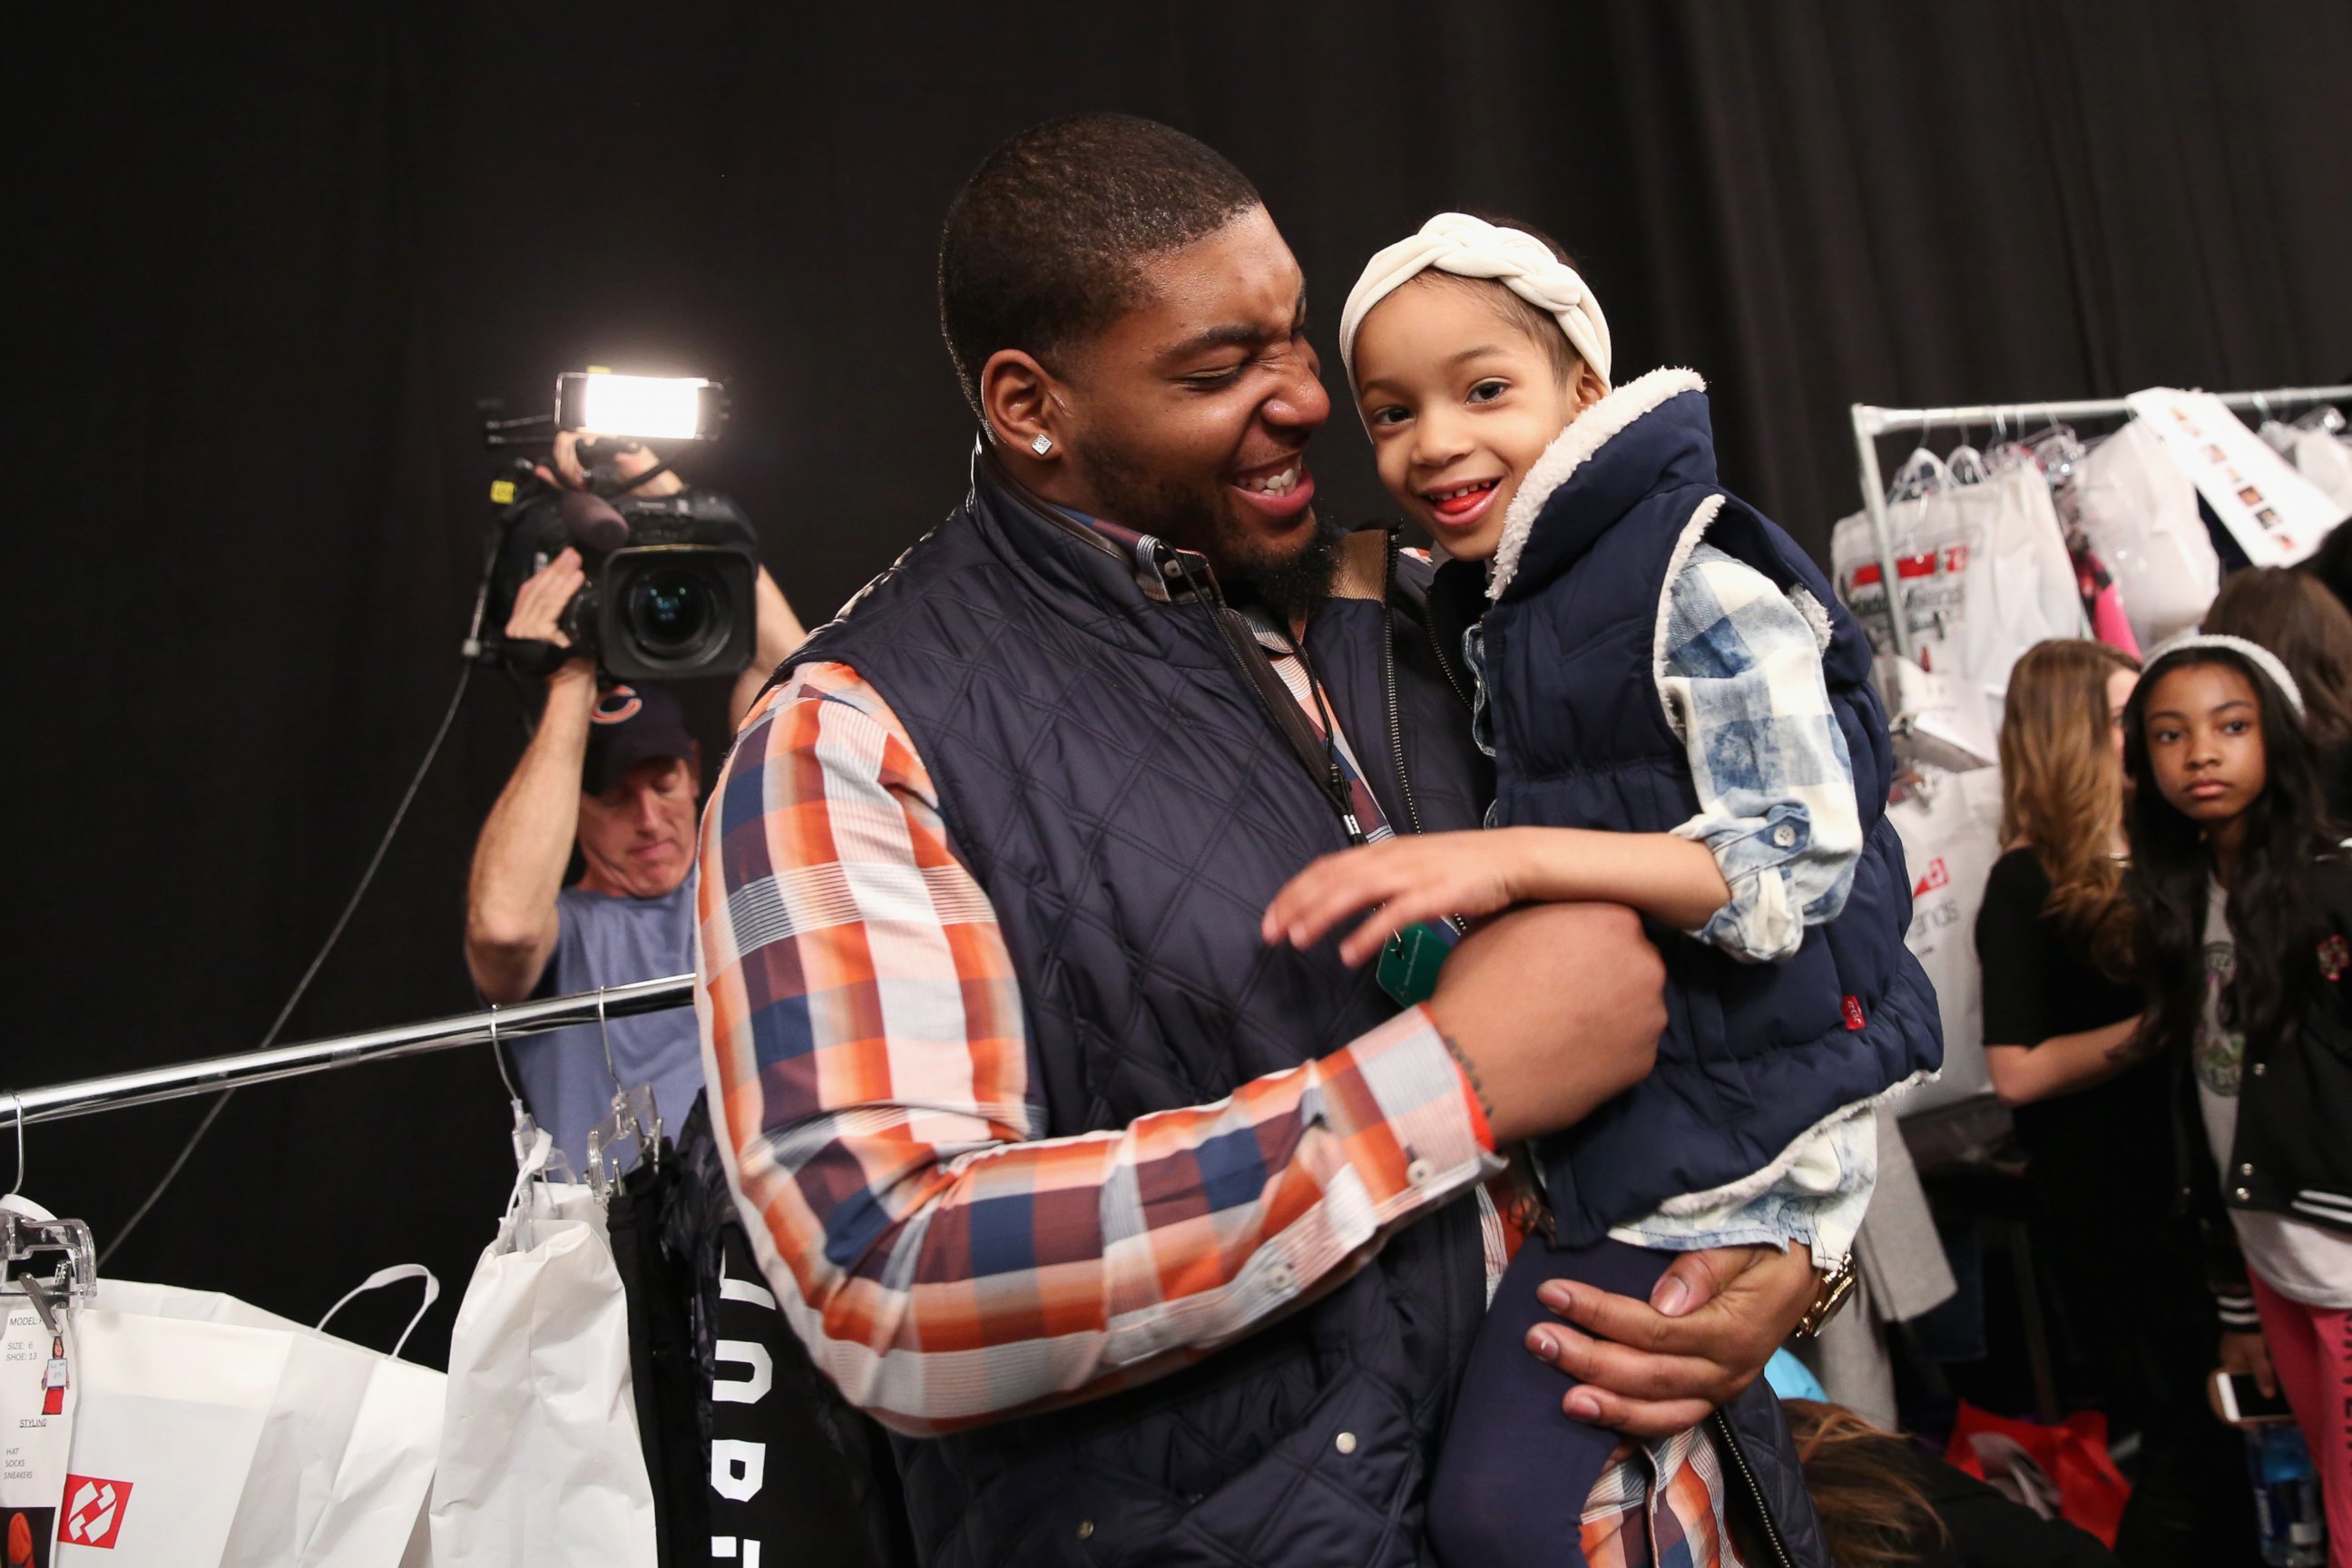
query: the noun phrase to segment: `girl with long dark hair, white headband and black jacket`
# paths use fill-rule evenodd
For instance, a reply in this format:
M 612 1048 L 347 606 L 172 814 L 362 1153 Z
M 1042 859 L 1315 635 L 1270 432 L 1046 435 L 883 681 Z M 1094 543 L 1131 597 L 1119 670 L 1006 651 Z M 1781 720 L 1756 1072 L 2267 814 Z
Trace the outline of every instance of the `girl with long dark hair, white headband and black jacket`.
M 2159 646 L 2124 745 L 2143 1039 L 2176 1063 L 2176 1143 L 2211 1157 L 2185 1185 L 2230 1215 L 2260 1314 L 2246 1333 L 2246 1302 L 2223 1298 L 2223 1366 L 2284 1387 L 2328 1535 L 2352 1542 L 2352 863 L 2267 649 Z

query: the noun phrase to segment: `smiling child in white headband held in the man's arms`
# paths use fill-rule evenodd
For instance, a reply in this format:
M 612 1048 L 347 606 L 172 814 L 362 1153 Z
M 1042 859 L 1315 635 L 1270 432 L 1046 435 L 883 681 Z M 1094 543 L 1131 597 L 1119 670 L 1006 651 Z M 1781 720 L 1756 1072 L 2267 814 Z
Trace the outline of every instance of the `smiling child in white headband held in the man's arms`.
M 1531 1361 L 1569 1333 L 1548 1302 L 1569 1281 L 1646 1298 L 1679 1251 L 1809 1246 L 1818 1319 L 1877 1173 L 1872 1100 L 1943 1060 L 1903 947 L 1870 644 L 1804 550 L 1717 484 L 1696 374 L 1611 390 L 1609 320 L 1543 235 L 1430 219 L 1364 268 L 1341 357 L 1381 480 L 1451 557 L 1430 616 L 1496 802 L 1486 832 L 1315 863 L 1265 933 L 1308 945 L 1371 910 L 1341 943 L 1367 961 L 1524 900 L 1644 914 L 1668 973 L 1656 1067 L 1534 1150 L 1541 1222 L 1430 1493 L 1456 1568 L 1618 1561 L 1606 1530 L 1644 1530 L 1646 1509 L 1581 1521 L 1616 1436 Z

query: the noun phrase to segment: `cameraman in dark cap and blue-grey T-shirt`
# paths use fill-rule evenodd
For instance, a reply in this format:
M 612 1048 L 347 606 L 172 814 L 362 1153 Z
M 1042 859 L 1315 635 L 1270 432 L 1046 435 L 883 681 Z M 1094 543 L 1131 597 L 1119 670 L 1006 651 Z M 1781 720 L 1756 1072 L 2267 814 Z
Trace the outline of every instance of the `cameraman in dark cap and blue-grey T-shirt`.
M 623 480 L 656 465 L 633 447 L 614 468 Z M 541 470 L 546 475 L 546 470 Z M 555 473 L 586 487 L 576 437 L 555 444 Z M 640 494 L 684 489 L 659 473 Z M 586 574 L 564 550 L 515 595 L 506 637 L 572 646 L 560 616 Z M 760 569 L 757 651 L 736 677 L 729 729 L 767 675 L 807 632 L 776 581 Z M 510 1004 L 597 985 L 654 980 L 694 969 L 694 820 L 701 799 L 701 750 L 687 736 L 677 703 L 654 686 L 604 686 L 595 661 L 567 658 L 546 679 L 539 731 L 482 823 L 466 886 L 466 969 L 485 1001 Z M 562 886 L 574 844 L 586 870 Z M 701 1093 L 701 1046 L 689 1009 L 614 1018 L 612 1072 L 595 1025 L 534 1034 L 513 1044 L 515 1072 L 532 1114 L 555 1145 L 586 1166 L 588 1128 L 612 1110 L 621 1086 L 652 1084 L 661 1121 L 677 1128 Z

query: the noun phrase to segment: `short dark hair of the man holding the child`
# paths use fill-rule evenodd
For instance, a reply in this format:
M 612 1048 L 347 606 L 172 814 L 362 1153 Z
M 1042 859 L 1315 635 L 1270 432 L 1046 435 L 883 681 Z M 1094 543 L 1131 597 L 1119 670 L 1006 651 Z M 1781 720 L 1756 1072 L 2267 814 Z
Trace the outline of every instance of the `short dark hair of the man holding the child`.
M 1136 115 L 1068 115 L 990 153 L 938 233 L 938 327 L 981 409 L 981 367 L 1018 348 L 1051 367 L 1143 301 L 1141 268 L 1251 207 L 1221 153 Z

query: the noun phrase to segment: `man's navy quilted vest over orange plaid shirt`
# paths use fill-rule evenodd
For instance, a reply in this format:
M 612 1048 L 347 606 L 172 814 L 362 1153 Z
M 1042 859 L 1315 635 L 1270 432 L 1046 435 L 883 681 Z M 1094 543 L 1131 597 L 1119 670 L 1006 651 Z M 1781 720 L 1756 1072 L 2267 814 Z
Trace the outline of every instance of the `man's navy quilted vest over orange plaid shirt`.
M 1414 804 L 1437 832 L 1477 825 L 1486 769 L 1421 618 L 1425 581 L 1402 562 L 1395 672 Z M 1218 614 L 1148 592 L 1108 541 L 981 463 L 967 503 L 795 656 L 856 668 L 938 783 L 1011 945 L 1051 1135 L 1218 1100 L 1395 1013 L 1331 943 L 1258 940 L 1282 882 L 1345 835 Z M 1331 599 L 1305 644 L 1402 825 L 1381 630 L 1376 602 Z M 898 1439 L 917 1547 L 957 1566 L 1416 1563 L 1482 1279 L 1475 1206 L 1454 1204 L 1195 1368 Z

